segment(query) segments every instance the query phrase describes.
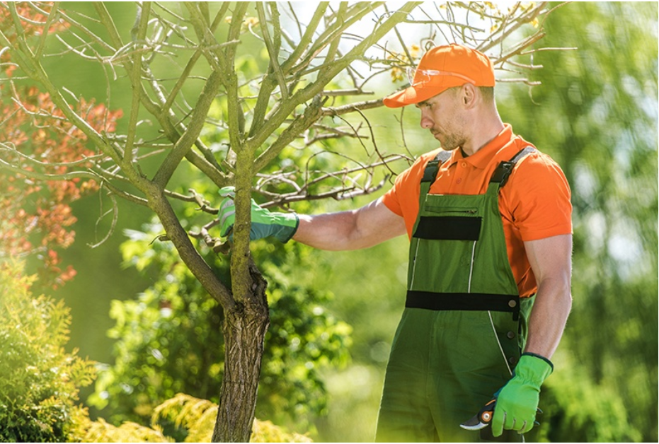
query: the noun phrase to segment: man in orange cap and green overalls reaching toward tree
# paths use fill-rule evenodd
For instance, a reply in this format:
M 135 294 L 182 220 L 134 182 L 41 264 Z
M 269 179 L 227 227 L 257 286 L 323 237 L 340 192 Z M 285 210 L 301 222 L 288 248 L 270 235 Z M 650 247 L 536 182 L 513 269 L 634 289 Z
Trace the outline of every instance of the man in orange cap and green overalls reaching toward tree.
M 384 197 L 355 211 L 297 216 L 253 204 L 253 238 L 352 250 L 410 237 L 377 440 L 522 440 L 553 370 L 571 309 L 570 189 L 551 158 L 502 122 L 494 84 L 484 54 L 430 49 L 411 86 L 384 105 L 416 105 L 442 150 L 420 156 Z M 222 204 L 223 235 L 232 204 Z M 486 433 L 459 426 L 493 397 Z

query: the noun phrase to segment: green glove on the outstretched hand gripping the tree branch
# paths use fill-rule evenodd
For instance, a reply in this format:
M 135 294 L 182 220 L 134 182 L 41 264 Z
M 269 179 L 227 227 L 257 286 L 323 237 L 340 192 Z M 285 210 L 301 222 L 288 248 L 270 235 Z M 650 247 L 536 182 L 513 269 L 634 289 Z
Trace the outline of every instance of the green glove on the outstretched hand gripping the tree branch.
M 234 197 L 236 192 L 234 187 L 224 187 L 219 190 L 219 195 L 224 197 L 219 204 L 219 213 L 217 218 L 220 224 L 220 235 L 233 236 L 231 231 L 236 221 L 236 206 Z M 252 228 L 249 232 L 250 240 L 257 240 L 273 236 L 274 238 L 287 243 L 297 231 L 299 218 L 295 213 L 273 213 L 265 208 L 261 208 L 252 199 L 251 206 Z

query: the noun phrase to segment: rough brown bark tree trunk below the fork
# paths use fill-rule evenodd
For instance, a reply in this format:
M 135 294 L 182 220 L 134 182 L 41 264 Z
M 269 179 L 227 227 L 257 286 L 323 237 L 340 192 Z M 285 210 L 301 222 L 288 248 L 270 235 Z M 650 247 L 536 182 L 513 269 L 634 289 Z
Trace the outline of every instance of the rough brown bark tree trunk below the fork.
M 252 433 L 263 340 L 270 325 L 267 282 L 250 260 L 251 298 L 224 320 L 224 376 L 214 443 L 247 443 Z

